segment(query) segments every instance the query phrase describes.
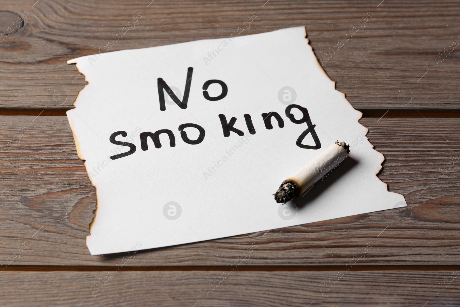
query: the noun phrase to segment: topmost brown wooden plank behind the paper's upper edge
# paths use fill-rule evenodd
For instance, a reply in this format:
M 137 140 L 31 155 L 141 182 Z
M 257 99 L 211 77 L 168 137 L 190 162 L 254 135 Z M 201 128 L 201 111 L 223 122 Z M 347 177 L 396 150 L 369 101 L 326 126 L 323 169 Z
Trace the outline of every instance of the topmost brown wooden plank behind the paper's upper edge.
M 379 2 L 56 0 L 31 6 L 28 0 L 6 0 L 2 10 L 27 17 L 0 43 L 0 108 L 68 109 L 86 82 L 67 60 L 104 47 L 116 51 L 225 38 L 256 12 L 241 35 L 306 26 L 316 56 L 329 58 L 324 69 L 357 109 L 459 109 L 459 58 L 439 54 L 459 41 L 458 3 Z M 134 28 L 117 40 L 138 12 L 142 17 Z M 372 17 L 358 24 L 368 12 Z M 344 45 L 335 47 L 339 41 Z M 330 50 L 336 51 L 326 57 Z

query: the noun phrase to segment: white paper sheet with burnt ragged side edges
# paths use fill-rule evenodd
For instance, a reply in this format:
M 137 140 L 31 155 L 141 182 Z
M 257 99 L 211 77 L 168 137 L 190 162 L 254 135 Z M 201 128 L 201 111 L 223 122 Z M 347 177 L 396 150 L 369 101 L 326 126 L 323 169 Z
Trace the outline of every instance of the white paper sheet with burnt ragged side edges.
M 305 37 L 305 28 L 297 27 L 107 52 L 68 62 L 76 63 L 89 82 L 67 116 L 78 156 L 86 161 L 96 187 L 96 216 L 86 237 L 92 255 L 406 206 L 402 195 L 388 192 L 376 177 L 384 157 L 364 137 L 368 129 L 358 123 L 362 113 L 335 90 Z M 178 89 L 180 98 L 189 67 L 193 76 L 187 108 L 181 109 L 164 92 L 166 110 L 160 110 L 157 78 Z M 224 81 L 228 93 L 221 100 L 209 101 L 202 87 L 214 79 Z M 221 91 L 219 84 L 208 88 L 211 97 Z M 291 122 L 285 115 L 288 104 L 308 110 L 320 149 L 296 145 L 307 124 Z M 282 117 L 284 127 L 278 127 L 275 118 L 272 129 L 265 127 L 262 113 L 270 111 Z M 302 117 L 295 108 L 292 113 L 296 119 Z M 227 121 L 236 117 L 234 127 L 245 135 L 230 132 L 224 137 L 219 114 Z M 253 135 L 244 114 L 252 118 Z M 200 144 L 183 141 L 178 126 L 184 123 L 205 129 Z M 170 147 L 167 134 L 161 134 L 161 148 L 148 138 L 149 149 L 141 150 L 139 133 L 160 129 L 173 132 L 175 147 Z M 129 150 L 109 141 L 117 131 L 125 131 L 128 137 L 115 139 L 134 144 L 136 151 L 111 160 L 117 148 L 116 153 Z M 198 137 L 195 128 L 185 131 L 189 139 Z M 351 145 L 350 157 L 304 197 L 294 200 L 295 206 L 277 204 L 272 194 L 281 182 L 336 140 Z M 303 144 L 315 145 L 311 133 Z

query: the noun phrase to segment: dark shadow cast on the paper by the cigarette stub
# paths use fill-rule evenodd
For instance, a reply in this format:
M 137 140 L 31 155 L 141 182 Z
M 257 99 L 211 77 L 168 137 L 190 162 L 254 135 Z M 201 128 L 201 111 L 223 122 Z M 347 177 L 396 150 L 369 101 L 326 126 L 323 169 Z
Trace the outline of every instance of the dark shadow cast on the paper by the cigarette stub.
M 297 207 L 297 209 L 301 209 L 314 201 L 316 197 L 318 197 L 321 193 L 326 191 L 335 181 L 337 181 L 341 176 L 351 170 L 351 168 L 355 167 L 358 162 L 348 156 L 343 162 L 340 163 L 338 167 L 333 169 L 331 172 L 328 173 L 325 177 L 320 179 L 318 182 L 313 185 L 310 191 L 304 193 L 304 195 L 297 197 L 292 202 Z

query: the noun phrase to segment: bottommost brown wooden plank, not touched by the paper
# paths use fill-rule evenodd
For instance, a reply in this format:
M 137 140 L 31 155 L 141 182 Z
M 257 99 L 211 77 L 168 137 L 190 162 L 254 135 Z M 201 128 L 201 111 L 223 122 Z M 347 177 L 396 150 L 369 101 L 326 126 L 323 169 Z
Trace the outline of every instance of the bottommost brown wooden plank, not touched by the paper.
M 236 267 L 224 272 L 5 271 L 1 302 L 4 306 L 81 307 L 428 307 L 460 302 L 460 270 L 244 272 Z M 324 284 L 329 281 L 328 289 Z M 215 283 L 214 288 L 210 283 Z

